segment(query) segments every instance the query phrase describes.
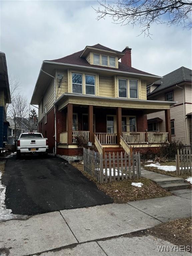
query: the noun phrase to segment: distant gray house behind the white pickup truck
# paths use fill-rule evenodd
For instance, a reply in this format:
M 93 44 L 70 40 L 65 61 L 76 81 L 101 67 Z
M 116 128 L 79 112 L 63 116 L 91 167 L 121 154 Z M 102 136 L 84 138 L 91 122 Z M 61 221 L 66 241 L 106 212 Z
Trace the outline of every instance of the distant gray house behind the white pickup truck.
M 7 121 L 10 126 L 8 127 L 8 144 L 13 145 L 15 139 L 18 139 L 21 132 L 37 132 L 37 120 L 30 118 L 22 118 L 21 120 L 21 129 L 16 129 L 15 131 L 15 122 L 11 117 L 7 117 Z M 16 136 L 15 136 L 16 133 Z

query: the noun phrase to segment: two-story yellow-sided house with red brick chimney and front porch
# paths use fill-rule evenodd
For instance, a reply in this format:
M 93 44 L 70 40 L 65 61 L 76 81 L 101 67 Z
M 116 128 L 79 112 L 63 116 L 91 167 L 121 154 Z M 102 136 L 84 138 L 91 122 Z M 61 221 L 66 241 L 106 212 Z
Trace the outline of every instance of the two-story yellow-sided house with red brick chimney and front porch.
M 31 104 L 39 105 L 39 132 L 49 149 L 78 156 L 77 138 L 100 152 L 156 148 L 171 139 L 170 101 L 147 100 L 146 85 L 161 79 L 131 65 L 131 48 L 96 44 L 55 60 L 44 60 Z M 163 110 L 166 129 L 147 131 L 147 114 Z

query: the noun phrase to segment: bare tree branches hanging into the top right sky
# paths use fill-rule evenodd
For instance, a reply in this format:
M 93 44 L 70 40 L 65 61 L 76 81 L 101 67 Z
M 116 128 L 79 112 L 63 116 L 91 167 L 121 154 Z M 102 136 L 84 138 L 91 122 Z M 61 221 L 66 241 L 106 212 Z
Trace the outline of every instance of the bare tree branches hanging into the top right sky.
M 109 16 L 117 24 L 140 25 L 141 34 L 147 36 L 150 36 L 153 23 L 191 29 L 191 0 L 116 0 L 113 4 L 105 1 L 98 3 L 100 7 L 94 9 L 98 13 L 97 20 Z

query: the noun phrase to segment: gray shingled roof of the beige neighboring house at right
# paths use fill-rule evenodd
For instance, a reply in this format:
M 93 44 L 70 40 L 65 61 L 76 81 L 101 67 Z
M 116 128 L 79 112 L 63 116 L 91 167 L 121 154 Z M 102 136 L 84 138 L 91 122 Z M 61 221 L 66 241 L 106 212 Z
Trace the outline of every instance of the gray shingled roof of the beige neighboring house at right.
M 158 85 L 158 87 L 149 93 L 147 96 L 155 94 L 156 92 L 160 92 L 168 87 L 171 87 L 176 84 L 180 84 L 182 82 L 191 82 L 191 72 L 192 70 L 185 67 L 180 67 L 171 73 L 163 76 L 162 79 L 155 81 L 154 84 Z

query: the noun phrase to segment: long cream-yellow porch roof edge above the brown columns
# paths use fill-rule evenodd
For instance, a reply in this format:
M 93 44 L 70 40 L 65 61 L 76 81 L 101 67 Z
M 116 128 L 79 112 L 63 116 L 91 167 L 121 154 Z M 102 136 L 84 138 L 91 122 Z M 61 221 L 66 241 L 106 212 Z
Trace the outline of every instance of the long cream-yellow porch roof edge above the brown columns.
M 155 101 L 155 100 L 139 100 L 139 99 L 122 99 L 122 98 L 109 98 L 90 95 L 79 95 L 72 93 L 64 93 L 56 102 L 58 110 L 64 109 L 67 104 L 74 105 L 92 105 L 95 107 L 116 108 L 121 107 L 124 109 L 137 109 L 142 110 L 144 114 L 154 113 L 161 110 L 169 109 L 173 101 Z

